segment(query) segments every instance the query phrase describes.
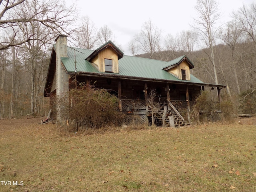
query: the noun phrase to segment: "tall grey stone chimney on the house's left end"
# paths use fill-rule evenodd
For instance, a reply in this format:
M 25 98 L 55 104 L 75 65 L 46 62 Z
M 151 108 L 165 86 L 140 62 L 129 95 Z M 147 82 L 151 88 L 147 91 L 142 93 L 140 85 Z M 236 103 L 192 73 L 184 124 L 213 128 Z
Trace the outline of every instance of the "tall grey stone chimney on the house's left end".
M 57 97 L 57 121 L 61 121 L 61 105 L 68 101 L 68 74 L 62 66 L 61 57 L 67 57 L 67 36 L 59 35 L 56 38 L 56 97 Z

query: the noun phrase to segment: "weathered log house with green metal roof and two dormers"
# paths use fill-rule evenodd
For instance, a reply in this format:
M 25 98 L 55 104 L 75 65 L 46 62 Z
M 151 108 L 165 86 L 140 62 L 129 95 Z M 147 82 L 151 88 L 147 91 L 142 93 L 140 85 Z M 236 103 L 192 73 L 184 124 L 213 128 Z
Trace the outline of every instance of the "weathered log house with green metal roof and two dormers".
M 185 55 L 165 62 L 126 56 L 111 41 L 96 50 L 68 47 L 65 35 L 58 36 L 55 41 L 44 90 L 46 97 L 66 95 L 74 87 L 76 78 L 78 82 L 110 90 L 119 99 L 120 111 L 136 112 L 145 119 L 152 110 L 148 101 L 150 90 L 155 90 L 163 103 L 171 103 L 168 104 L 170 113 L 167 114 L 171 122 L 172 114 L 177 115 L 178 112 L 172 108 L 183 106 L 187 109 L 205 86 L 217 88 L 219 99 L 220 89 L 225 87 L 204 83 L 190 74 L 194 64 Z M 56 108 L 58 119 L 60 106 L 54 102 L 52 105 Z M 178 114 L 178 118 L 182 116 Z

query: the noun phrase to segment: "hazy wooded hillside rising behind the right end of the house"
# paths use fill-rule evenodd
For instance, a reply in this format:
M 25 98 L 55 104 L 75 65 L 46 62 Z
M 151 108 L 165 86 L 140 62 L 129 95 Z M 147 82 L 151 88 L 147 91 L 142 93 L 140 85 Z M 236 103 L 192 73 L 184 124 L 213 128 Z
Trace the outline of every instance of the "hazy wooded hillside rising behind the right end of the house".
M 228 45 L 218 44 L 214 46 L 216 53 L 216 68 L 218 83 L 224 84 L 225 93 L 229 96 L 238 96 L 241 93 L 251 90 L 256 83 L 256 56 L 254 44 L 251 42 L 236 45 L 237 50 L 232 50 Z M 196 50 L 193 54 L 187 51 L 162 51 L 156 53 L 156 59 L 170 61 L 186 55 L 194 64 L 192 74 L 206 83 L 215 83 L 212 69 L 212 62 L 209 58 L 207 48 Z M 149 54 L 136 55 L 150 58 Z

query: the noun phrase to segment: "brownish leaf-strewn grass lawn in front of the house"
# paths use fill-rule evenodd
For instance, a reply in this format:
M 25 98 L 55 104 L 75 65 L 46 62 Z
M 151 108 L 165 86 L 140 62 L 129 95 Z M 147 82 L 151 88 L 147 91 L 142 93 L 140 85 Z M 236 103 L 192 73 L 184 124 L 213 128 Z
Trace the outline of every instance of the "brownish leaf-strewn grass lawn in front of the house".
M 256 191 L 256 118 L 92 135 L 40 120 L 0 120 L 0 180 L 24 182 L 0 191 Z

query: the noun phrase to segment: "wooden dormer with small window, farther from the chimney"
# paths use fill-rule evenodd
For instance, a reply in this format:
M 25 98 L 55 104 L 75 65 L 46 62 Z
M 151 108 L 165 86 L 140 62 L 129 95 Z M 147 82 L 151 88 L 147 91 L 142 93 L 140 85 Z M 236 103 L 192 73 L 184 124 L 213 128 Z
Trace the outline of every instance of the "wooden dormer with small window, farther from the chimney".
M 180 80 L 190 81 L 190 69 L 194 68 L 194 64 L 186 57 L 186 55 L 171 60 L 162 66 L 162 69 L 176 76 Z

